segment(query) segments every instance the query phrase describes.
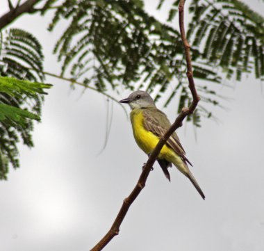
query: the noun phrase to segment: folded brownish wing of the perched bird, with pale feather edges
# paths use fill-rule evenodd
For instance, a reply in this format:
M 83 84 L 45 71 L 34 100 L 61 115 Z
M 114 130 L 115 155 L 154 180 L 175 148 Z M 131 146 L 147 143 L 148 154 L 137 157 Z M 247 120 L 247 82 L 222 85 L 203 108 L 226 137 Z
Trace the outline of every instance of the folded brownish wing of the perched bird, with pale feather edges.
M 143 112 L 144 115 L 144 127 L 147 131 L 151 131 L 154 133 L 158 138 L 162 137 L 167 129 L 170 127 L 170 121 L 167 119 L 167 116 L 162 111 L 155 109 L 155 111 L 146 110 Z M 185 151 L 183 146 L 180 143 L 180 140 L 176 134 L 176 132 L 172 133 L 170 138 L 167 140 L 167 145 L 169 145 L 176 154 L 181 156 L 181 159 L 186 163 L 188 162 L 190 165 L 190 161 L 185 156 Z

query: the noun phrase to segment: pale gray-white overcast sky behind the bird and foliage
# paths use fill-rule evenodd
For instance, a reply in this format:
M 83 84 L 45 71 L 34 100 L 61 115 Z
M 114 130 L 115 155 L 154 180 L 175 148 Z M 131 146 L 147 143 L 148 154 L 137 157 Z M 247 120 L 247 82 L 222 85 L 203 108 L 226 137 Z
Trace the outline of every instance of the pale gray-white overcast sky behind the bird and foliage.
M 0 15 L 6 2 L 0 0 Z M 156 13 L 153 2 L 147 1 L 147 9 Z M 260 10 L 258 1 L 251 2 Z M 47 22 L 37 16 L 24 15 L 13 26 L 37 36 L 47 55 L 45 69 L 58 72 L 51 55 L 58 33 L 48 33 Z M 104 145 L 104 97 L 90 90 L 82 94 L 81 88 L 72 91 L 58 79 L 47 82 L 54 87 L 42 122 L 35 124 L 35 147 L 21 146 L 21 168 L 10 168 L 8 181 L 0 182 L 3 251 L 90 250 L 112 225 L 147 161 L 116 104 L 108 145 L 97 156 Z M 264 250 L 264 93 L 253 76 L 230 85 L 217 88 L 233 99 L 224 103 L 229 111 L 213 110 L 220 124 L 204 120 L 197 140 L 191 125 L 179 129 L 206 200 L 176 168 L 170 169 L 168 182 L 155 164 L 119 236 L 105 250 Z M 175 106 L 176 100 L 163 110 L 170 120 Z

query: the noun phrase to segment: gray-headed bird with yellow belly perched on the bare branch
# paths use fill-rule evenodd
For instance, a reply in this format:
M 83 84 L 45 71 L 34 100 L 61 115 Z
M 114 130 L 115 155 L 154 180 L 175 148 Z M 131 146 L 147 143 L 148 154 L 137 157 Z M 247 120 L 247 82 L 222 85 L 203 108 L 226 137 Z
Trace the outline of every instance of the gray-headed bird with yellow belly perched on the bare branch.
M 130 119 L 133 129 L 135 142 L 146 154 L 151 154 L 160 138 L 171 126 L 167 115 L 160 111 L 149 93 L 143 90 L 132 92 L 129 97 L 119 101 L 120 103 L 129 104 L 131 108 Z M 169 167 L 172 164 L 188 177 L 193 186 L 197 189 L 199 195 L 205 200 L 205 195 L 192 175 L 188 164 L 192 166 L 185 156 L 185 150 L 180 143 L 176 132 L 172 133 L 163 148 L 160 150 L 157 161 L 163 170 L 165 177 L 170 181 Z

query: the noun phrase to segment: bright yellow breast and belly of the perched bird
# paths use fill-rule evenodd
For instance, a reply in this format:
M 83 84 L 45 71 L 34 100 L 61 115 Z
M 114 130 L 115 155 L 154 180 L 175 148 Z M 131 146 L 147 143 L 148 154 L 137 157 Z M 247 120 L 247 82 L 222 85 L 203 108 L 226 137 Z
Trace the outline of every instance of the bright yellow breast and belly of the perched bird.
M 131 124 L 133 127 L 135 141 L 146 154 L 150 154 L 158 144 L 158 140 L 160 140 L 160 138 L 158 138 L 151 131 L 147 131 L 144 127 L 143 121 L 144 116 L 142 109 L 135 109 L 131 111 Z M 167 159 L 169 161 L 174 158 L 174 156 L 175 154 L 173 150 L 170 147 L 167 147 L 167 145 L 164 145 L 158 158 Z

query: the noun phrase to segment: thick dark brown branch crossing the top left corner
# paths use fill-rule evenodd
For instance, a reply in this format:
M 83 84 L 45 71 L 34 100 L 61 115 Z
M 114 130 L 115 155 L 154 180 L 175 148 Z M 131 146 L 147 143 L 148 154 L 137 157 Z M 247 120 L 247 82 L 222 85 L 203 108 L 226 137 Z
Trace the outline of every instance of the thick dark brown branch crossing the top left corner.
M 10 8 L 8 13 L 4 14 L 0 17 L 0 31 L 3 29 L 3 27 L 6 27 L 8 24 L 13 22 L 19 15 L 22 15 L 24 13 L 34 13 L 35 9 L 33 6 L 35 6 L 36 3 L 40 2 L 41 0 L 27 0 L 22 5 L 16 6 L 15 8 Z

